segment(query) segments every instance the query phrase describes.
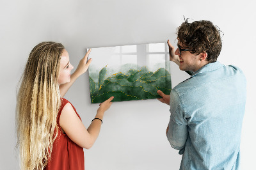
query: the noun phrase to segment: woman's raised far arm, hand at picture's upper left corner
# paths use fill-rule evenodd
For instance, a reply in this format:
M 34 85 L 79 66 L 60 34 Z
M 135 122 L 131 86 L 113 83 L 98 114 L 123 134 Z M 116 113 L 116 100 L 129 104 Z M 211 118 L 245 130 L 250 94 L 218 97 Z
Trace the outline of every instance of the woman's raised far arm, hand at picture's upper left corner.
M 87 61 L 87 58 L 88 58 L 90 52 L 91 52 L 91 49 L 88 50 L 88 52 L 86 52 L 84 58 L 81 59 L 81 61 L 79 62 L 79 65 L 76 68 L 76 71 L 74 73 L 72 73 L 72 75 L 70 76 L 70 82 L 60 85 L 59 88 L 60 88 L 60 96 L 61 97 L 64 97 L 65 94 L 67 93 L 68 89 L 72 86 L 72 84 L 76 81 L 76 79 L 88 70 L 90 63 L 92 62 L 92 59 L 89 59 Z

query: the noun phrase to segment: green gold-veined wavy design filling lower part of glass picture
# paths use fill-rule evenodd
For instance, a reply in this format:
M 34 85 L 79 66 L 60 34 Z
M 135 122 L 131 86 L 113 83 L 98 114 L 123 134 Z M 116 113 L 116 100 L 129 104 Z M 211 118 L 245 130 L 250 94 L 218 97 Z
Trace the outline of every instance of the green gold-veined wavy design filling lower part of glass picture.
M 113 102 L 161 98 L 157 90 L 160 89 L 165 94 L 170 94 L 171 91 L 171 76 L 164 68 L 153 73 L 144 66 L 141 70 L 119 72 L 104 79 L 106 72 L 107 66 L 100 70 L 98 84 L 89 77 L 92 103 L 104 102 L 112 96 Z

